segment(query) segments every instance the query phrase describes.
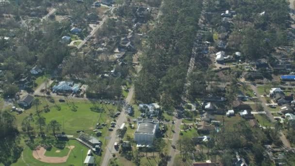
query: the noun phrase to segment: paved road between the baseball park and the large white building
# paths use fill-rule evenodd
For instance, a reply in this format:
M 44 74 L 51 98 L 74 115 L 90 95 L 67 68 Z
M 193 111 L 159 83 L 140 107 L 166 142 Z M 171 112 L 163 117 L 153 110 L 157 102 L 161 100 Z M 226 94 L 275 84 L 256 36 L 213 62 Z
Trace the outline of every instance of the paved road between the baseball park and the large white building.
M 130 104 L 131 103 L 131 99 L 134 93 L 134 87 L 132 86 L 128 96 L 126 98 L 126 103 Z M 110 137 L 111 139 L 109 140 L 109 143 L 106 147 L 106 149 L 104 150 L 104 157 L 103 157 L 103 161 L 101 163 L 101 166 L 108 166 L 110 159 L 113 157 L 113 153 L 117 153 L 117 151 L 114 148 L 114 144 L 117 140 L 117 136 L 116 136 L 116 130 L 119 129 L 122 125 L 122 123 L 124 123 L 127 120 L 126 115 L 125 115 L 125 107 L 123 108 L 123 111 L 121 112 L 120 116 L 117 119 L 117 125 L 114 129 L 114 131 L 111 133 Z

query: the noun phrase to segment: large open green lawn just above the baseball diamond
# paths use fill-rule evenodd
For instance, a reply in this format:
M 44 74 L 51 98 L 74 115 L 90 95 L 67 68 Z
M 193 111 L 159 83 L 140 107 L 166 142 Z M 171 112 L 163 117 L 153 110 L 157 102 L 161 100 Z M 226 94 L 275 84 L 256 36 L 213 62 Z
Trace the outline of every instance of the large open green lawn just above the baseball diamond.
M 65 132 L 69 135 L 75 135 L 77 136 L 77 131 L 85 131 L 85 133 L 93 133 L 92 130 L 95 129 L 96 123 L 105 123 L 107 122 L 110 124 L 110 122 L 113 121 L 112 118 L 109 117 L 108 110 L 114 110 L 115 106 L 113 105 L 105 105 L 103 104 L 102 107 L 104 108 L 104 113 L 96 113 L 90 111 L 90 108 L 94 105 L 100 105 L 97 102 L 92 103 L 90 101 L 73 101 L 73 102 L 65 102 L 60 103 L 56 101 L 56 104 L 60 106 L 61 110 L 58 111 L 57 107 L 54 106 L 54 104 L 50 103 L 49 101 L 46 102 L 46 99 L 40 98 L 41 104 L 40 109 L 43 109 L 43 105 L 49 104 L 50 111 L 48 113 L 42 112 L 41 115 L 46 118 L 46 123 L 48 124 L 51 120 L 57 120 L 60 124 L 65 124 Z M 77 111 L 76 111 L 77 110 Z M 35 106 L 33 106 L 31 109 L 26 110 L 24 113 L 16 116 L 16 124 L 18 126 L 18 129 L 21 130 L 21 122 L 30 114 L 36 114 L 35 112 Z M 14 113 L 16 114 L 16 113 Z M 35 115 L 36 117 L 36 115 Z M 98 120 L 99 119 L 99 120 Z M 107 119 L 109 121 L 107 121 Z M 38 132 L 38 129 L 36 132 Z M 63 130 L 63 127 L 62 129 Z M 102 136 L 108 132 L 108 127 L 104 127 L 102 130 Z

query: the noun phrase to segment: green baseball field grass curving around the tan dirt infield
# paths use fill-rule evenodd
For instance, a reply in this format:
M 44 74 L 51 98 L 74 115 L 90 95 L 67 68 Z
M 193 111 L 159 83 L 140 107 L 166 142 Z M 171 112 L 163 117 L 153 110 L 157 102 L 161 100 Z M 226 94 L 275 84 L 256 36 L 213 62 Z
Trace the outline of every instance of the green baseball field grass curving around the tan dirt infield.
M 12 166 L 26 166 L 26 165 L 28 166 L 69 166 L 69 165 L 78 166 L 78 165 L 82 165 L 82 161 L 84 162 L 84 159 L 87 155 L 88 148 L 86 148 L 85 146 L 83 146 L 76 140 L 69 140 L 67 143 L 67 146 L 69 145 L 73 145 L 75 146 L 75 148 L 71 151 L 66 163 L 49 164 L 49 163 L 40 162 L 33 157 L 33 151 L 30 148 L 25 147 L 23 151 L 23 159 L 22 157 L 20 157 L 16 163 L 12 164 Z

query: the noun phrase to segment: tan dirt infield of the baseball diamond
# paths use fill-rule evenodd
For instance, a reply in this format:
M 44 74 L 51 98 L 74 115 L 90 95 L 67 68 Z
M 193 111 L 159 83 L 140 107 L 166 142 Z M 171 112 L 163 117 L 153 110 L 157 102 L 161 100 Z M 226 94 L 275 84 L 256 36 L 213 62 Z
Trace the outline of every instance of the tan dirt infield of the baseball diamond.
M 67 155 L 64 157 L 47 157 L 44 155 L 46 152 L 46 149 L 44 149 L 43 147 L 38 147 L 36 150 L 33 151 L 33 157 L 44 163 L 66 163 L 66 160 L 68 156 L 70 155 L 71 150 L 74 149 L 75 146 L 69 146 L 66 148 L 70 150 L 68 151 Z

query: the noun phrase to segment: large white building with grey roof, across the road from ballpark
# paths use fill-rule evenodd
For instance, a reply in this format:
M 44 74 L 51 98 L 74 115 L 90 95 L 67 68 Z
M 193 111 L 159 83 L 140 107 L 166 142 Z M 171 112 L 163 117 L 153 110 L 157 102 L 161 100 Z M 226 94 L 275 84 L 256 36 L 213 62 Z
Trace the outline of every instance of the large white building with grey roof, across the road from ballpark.
M 137 142 L 137 147 L 151 147 L 158 129 L 158 120 L 137 119 L 137 128 L 134 133 L 134 140 Z

